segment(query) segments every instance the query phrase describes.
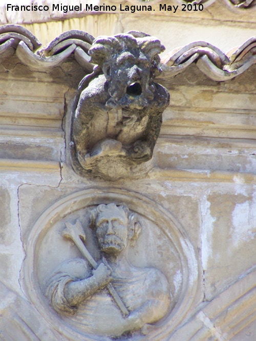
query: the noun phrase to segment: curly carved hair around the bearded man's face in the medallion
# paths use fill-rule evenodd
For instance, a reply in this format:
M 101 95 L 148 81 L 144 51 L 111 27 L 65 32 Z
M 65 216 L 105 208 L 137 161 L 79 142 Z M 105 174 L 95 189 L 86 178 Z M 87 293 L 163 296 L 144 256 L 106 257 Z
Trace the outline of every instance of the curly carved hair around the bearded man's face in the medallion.
M 95 210 L 91 211 L 90 214 L 90 227 L 91 228 L 95 228 L 96 226 L 96 220 L 98 218 L 98 215 L 104 211 L 107 210 L 113 210 L 113 209 L 117 209 L 121 212 L 124 212 L 124 214 L 127 217 L 128 220 L 128 224 L 127 224 L 127 229 L 129 231 L 133 231 L 133 236 L 131 238 L 131 241 L 136 240 L 140 234 L 141 231 L 141 225 L 139 222 L 139 217 L 137 216 L 137 214 L 130 212 L 129 208 L 127 208 L 127 206 L 120 205 L 117 206 L 114 202 L 109 203 L 109 204 L 103 204 L 101 203 L 99 206 L 96 207 Z

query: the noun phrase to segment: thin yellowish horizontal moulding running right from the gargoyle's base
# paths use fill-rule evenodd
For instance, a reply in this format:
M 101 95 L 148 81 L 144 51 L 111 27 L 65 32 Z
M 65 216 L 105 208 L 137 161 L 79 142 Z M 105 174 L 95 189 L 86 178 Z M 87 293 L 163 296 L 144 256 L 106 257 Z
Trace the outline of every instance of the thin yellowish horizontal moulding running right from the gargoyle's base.
M 205 181 L 207 183 L 256 184 L 256 174 L 208 170 L 184 170 L 153 168 L 148 177 L 172 181 Z

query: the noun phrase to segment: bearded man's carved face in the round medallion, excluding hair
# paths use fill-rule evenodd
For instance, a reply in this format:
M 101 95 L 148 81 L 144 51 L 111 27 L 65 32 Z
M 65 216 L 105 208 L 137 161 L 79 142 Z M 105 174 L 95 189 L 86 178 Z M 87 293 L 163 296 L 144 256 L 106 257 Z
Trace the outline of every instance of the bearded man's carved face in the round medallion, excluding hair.
M 116 255 L 127 245 L 128 219 L 123 210 L 106 209 L 96 219 L 96 235 L 101 251 Z

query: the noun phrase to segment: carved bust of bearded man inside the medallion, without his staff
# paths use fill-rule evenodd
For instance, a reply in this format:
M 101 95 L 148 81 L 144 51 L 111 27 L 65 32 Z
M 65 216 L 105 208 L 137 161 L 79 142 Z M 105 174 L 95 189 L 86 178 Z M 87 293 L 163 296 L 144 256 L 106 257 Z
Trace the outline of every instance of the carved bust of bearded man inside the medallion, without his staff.
M 128 259 L 141 228 L 138 217 L 125 206 L 100 204 L 91 224 L 101 260 L 94 270 L 84 259 L 60 264 L 46 288 L 52 307 L 74 328 L 104 337 L 139 331 L 162 319 L 170 306 L 167 279 L 158 269 L 139 268 Z M 113 300 L 109 285 L 127 314 Z

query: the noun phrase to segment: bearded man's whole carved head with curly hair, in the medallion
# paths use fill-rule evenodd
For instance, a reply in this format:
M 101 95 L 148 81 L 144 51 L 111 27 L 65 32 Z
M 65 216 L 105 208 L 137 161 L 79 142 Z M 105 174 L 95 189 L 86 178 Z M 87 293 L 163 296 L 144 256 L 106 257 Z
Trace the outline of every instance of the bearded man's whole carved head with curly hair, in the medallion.
M 140 232 L 138 217 L 126 206 L 100 204 L 91 215 L 101 251 L 116 255 Z

